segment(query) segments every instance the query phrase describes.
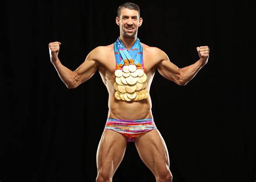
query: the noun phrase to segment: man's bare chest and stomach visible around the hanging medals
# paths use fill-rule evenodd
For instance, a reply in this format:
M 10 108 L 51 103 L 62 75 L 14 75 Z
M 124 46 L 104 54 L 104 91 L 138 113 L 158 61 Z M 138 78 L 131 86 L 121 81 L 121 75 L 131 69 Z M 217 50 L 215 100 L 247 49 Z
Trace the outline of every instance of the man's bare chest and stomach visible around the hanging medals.
M 157 58 L 156 51 L 154 47 L 149 47 L 143 44 L 143 61 L 144 68 L 147 75 L 147 86 L 146 90 L 150 93 L 150 86 L 154 73 L 156 72 L 156 66 L 160 61 Z M 114 82 L 116 76 L 114 71 L 116 71 L 116 58 L 114 57 L 113 44 L 108 46 L 102 46 L 102 53 L 104 55 L 100 57 L 98 70 L 100 76 L 109 92 L 109 114 L 108 118 L 118 118 L 126 120 L 139 120 L 143 118 L 153 118 L 151 111 L 151 97 L 150 94 L 147 99 L 140 101 L 126 102 L 123 100 L 117 100 L 114 97 Z

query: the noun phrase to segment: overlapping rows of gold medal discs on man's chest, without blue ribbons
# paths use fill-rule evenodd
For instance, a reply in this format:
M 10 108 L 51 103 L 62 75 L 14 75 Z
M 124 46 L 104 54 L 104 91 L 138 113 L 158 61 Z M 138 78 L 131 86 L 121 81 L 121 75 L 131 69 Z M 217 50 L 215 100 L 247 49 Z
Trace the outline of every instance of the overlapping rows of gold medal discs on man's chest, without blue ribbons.
M 114 75 L 114 97 L 123 101 L 139 101 L 146 99 L 149 93 L 145 89 L 147 86 L 147 75 L 144 73 L 142 66 L 134 64 L 133 60 L 124 60 L 125 64 L 118 66 Z

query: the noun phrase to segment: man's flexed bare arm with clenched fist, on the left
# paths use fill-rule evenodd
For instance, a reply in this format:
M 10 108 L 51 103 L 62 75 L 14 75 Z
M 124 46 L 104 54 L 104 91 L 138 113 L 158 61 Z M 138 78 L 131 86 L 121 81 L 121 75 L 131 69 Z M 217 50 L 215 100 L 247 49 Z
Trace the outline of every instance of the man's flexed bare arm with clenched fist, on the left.
M 50 58 L 58 72 L 59 78 L 64 82 L 66 87 L 76 88 L 95 74 L 98 69 L 98 62 L 96 60 L 98 48 L 92 50 L 87 55 L 85 61 L 75 71 L 71 71 L 69 68 L 63 66 L 58 58 L 59 46 L 60 43 L 58 41 L 49 44 Z

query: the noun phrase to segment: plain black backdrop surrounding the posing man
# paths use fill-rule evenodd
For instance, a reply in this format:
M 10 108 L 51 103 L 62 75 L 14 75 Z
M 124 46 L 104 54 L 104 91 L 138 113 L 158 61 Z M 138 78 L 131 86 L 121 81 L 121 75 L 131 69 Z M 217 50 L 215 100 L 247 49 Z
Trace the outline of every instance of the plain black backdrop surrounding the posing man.
M 2 1 L 1 171 L 4 181 L 95 181 L 96 150 L 107 116 L 107 90 L 96 72 L 67 89 L 50 63 L 48 44 L 76 69 L 119 35 L 125 1 Z M 173 182 L 255 181 L 255 72 L 252 1 L 133 1 L 138 37 L 179 67 L 210 58 L 185 87 L 154 76 L 156 125 L 169 150 Z M 113 181 L 154 181 L 133 143 Z

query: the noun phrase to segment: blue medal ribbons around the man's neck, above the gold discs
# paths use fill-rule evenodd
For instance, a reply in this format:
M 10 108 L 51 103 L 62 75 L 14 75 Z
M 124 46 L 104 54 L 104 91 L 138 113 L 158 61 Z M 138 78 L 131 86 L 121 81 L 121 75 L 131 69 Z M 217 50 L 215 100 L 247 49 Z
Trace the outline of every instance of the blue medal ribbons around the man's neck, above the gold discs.
M 116 57 L 116 69 L 122 69 L 124 65 L 136 65 L 138 69 L 144 69 L 143 48 L 139 38 L 136 39 L 130 51 L 127 51 L 122 40 L 118 37 L 114 43 L 114 55 Z

